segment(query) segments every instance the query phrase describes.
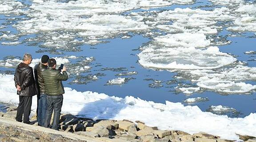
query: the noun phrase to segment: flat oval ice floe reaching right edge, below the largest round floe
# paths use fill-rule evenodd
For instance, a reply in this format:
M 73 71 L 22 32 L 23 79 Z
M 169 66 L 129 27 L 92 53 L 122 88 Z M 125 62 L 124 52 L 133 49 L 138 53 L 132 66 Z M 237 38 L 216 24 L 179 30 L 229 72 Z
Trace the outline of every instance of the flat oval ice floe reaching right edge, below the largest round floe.
M 217 79 L 208 79 L 196 83 L 199 87 L 214 90 L 220 93 L 246 93 L 256 89 L 256 85 L 246 84 L 243 82 L 222 81 Z

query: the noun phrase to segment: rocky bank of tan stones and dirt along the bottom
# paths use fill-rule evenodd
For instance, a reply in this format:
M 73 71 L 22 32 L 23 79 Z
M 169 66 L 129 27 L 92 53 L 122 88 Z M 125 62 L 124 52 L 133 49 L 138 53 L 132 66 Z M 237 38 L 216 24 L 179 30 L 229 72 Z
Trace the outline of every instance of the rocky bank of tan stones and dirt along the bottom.
M 15 121 L 16 106 L 7 106 L 6 110 L 6 113 L 0 112 L 0 142 L 234 142 L 203 132 L 191 135 L 179 130 L 158 130 L 140 121 L 92 120 L 72 114 L 61 115 L 59 131 L 37 126 L 37 123 L 32 126 L 34 130 L 28 130 L 30 125 Z M 36 122 L 36 116 L 31 119 Z M 9 121 L 13 125 L 5 124 Z M 24 126 L 17 127 L 15 123 Z M 39 133 L 41 129 L 46 131 Z M 75 135 L 75 139 L 67 134 Z M 256 142 L 251 136 L 240 135 L 240 139 Z

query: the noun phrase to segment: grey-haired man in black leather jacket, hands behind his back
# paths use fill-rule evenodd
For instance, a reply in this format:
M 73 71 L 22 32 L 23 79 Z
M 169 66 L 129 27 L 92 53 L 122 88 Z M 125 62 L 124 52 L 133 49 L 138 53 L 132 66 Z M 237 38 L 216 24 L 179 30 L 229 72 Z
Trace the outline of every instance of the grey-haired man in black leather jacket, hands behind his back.
M 14 75 L 14 82 L 17 88 L 17 95 L 19 95 L 20 103 L 17 108 L 16 121 L 23 122 L 27 124 L 34 124 L 29 121 L 29 115 L 32 105 L 32 96 L 36 95 L 36 85 L 33 75 L 32 67 L 28 65 L 32 61 L 32 56 L 28 53 L 24 54 L 23 63 L 20 63 L 16 68 Z

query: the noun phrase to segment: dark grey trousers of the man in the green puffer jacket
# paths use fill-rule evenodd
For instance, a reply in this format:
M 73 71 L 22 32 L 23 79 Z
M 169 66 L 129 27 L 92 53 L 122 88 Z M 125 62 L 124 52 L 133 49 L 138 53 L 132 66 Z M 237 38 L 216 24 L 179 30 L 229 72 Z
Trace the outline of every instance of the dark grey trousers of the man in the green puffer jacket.
M 47 111 L 46 111 L 44 127 L 48 128 L 50 126 L 52 111 L 54 109 L 52 129 L 58 130 L 62 103 L 63 103 L 63 95 L 56 95 L 56 96 L 47 95 Z

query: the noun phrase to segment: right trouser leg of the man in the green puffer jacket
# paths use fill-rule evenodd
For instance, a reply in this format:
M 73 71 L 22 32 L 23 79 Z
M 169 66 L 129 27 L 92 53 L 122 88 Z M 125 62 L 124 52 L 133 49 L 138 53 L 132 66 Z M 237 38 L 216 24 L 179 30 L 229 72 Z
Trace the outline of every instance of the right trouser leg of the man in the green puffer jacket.
M 60 122 L 60 112 L 63 103 L 63 95 L 58 95 L 54 99 L 54 116 L 52 122 L 52 129 L 58 130 L 59 122 Z

